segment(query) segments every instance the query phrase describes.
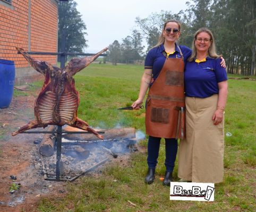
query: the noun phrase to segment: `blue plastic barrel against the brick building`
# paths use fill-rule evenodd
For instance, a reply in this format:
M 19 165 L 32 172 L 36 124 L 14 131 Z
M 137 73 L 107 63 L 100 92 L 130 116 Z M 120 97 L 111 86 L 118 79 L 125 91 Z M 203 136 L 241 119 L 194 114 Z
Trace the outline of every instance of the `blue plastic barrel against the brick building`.
M 8 108 L 15 82 L 14 61 L 0 59 L 0 108 Z

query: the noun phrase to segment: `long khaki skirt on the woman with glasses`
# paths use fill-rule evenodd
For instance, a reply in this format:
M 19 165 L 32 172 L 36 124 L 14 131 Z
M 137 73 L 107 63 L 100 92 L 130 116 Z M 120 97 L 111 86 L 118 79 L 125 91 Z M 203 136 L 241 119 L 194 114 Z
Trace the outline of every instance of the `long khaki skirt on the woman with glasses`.
M 217 126 L 212 116 L 218 95 L 186 97 L 186 139 L 178 150 L 178 177 L 192 182 L 218 183 L 224 174 L 224 117 Z

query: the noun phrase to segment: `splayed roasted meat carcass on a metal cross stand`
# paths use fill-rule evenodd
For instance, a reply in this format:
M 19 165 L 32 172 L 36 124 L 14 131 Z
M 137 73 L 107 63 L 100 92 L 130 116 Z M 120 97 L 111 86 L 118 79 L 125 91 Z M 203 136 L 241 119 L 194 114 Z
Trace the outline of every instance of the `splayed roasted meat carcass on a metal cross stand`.
M 75 89 L 73 75 L 87 67 L 108 48 L 90 57 L 73 58 L 64 68 L 58 68 L 45 61 L 33 59 L 22 48 L 16 47 L 16 49 L 29 61 L 33 68 L 45 76 L 45 82 L 35 102 L 35 120 L 30 121 L 12 135 L 15 136 L 22 131 L 37 127 L 45 128 L 48 125 L 69 125 L 90 131 L 98 138 L 103 139 L 103 136 L 90 128 L 87 122 L 76 117 L 79 94 Z

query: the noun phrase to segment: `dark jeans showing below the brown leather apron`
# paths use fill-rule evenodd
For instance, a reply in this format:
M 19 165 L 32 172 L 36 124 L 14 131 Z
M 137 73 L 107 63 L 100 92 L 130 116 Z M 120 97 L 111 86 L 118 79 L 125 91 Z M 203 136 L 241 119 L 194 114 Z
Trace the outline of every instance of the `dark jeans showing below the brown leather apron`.
M 161 138 L 149 136 L 148 140 L 148 166 L 155 169 L 159 154 Z M 165 138 L 165 166 L 166 171 L 173 171 L 178 150 L 178 142 L 175 138 Z

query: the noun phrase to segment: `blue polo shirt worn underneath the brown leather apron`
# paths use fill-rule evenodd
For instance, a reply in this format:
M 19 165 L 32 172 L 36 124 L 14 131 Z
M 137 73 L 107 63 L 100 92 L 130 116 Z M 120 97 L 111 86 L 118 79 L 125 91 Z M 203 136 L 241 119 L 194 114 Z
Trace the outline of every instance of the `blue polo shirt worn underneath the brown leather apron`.
M 184 57 L 184 63 L 186 64 L 186 60 L 191 55 L 192 51 L 189 47 L 186 47 L 186 46 L 180 46 L 180 48 Z M 165 51 L 163 44 L 158 47 L 152 48 L 149 50 L 145 59 L 144 68 L 152 69 L 154 80 L 156 80 L 161 69 L 165 64 L 166 57 L 163 55 L 162 53 L 163 51 Z M 176 43 L 175 43 L 175 52 L 173 54 L 170 54 L 169 58 L 181 58 L 180 50 L 178 49 Z

